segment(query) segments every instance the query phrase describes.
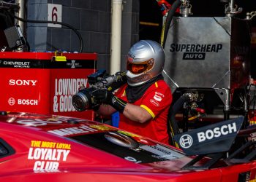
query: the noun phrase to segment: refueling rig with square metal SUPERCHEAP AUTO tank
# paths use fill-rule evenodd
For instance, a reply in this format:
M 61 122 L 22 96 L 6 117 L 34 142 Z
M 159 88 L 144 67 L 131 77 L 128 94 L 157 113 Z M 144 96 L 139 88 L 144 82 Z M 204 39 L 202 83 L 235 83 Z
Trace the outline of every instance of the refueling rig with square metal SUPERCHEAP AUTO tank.
M 250 24 L 255 13 L 238 18 L 242 8 L 234 0 L 222 1 L 226 3 L 224 17 L 193 17 L 187 0 L 175 1 L 165 15 L 161 39 L 165 49 L 163 75 L 173 92 L 170 125 L 174 135 L 181 129 L 187 131 L 190 121 L 200 121 L 208 105 L 217 100 L 222 103 L 222 120 L 229 119 L 234 111 L 248 114 L 252 100 Z M 179 15 L 174 16 L 177 9 Z M 181 122 L 176 122 L 179 111 Z

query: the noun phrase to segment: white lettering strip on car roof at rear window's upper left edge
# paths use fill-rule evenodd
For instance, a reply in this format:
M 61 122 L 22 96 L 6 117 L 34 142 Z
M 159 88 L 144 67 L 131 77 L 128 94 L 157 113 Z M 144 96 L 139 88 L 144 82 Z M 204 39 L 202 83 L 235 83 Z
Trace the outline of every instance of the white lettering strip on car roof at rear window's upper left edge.
M 67 128 L 61 128 L 58 130 L 49 130 L 48 132 L 51 132 L 56 135 L 60 136 L 67 136 L 67 135 L 76 135 L 76 134 L 82 134 L 86 132 L 97 132 L 98 130 L 88 127 L 84 124 L 82 124 L 79 127 L 67 127 Z

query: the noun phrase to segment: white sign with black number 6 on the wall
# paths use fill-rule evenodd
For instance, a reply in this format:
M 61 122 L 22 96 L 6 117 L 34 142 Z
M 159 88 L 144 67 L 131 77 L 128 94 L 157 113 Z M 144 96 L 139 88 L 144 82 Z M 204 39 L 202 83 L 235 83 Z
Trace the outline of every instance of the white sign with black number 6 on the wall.
M 61 4 L 48 4 L 48 21 L 61 22 L 62 21 L 62 5 Z M 48 27 L 61 28 L 60 24 L 48 23 Z

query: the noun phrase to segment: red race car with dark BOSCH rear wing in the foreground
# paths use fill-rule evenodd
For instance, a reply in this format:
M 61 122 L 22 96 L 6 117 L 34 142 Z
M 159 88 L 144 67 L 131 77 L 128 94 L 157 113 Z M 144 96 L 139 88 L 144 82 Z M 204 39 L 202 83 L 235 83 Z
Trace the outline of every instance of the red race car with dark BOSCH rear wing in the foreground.
M 1 181 L 256 181 L 243 118 L 176 135 L 180 149 L 99 122 L 1 112 Z

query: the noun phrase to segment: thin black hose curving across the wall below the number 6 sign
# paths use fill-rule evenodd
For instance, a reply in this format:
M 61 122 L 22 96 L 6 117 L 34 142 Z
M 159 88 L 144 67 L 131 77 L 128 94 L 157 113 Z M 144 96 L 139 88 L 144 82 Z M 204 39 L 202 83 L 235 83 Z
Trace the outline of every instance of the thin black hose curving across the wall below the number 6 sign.
M 17 17 L 15 15 L 13 15 L 11 12 L 8 12 L 8 14 L 12 17 L 14 17 L 15 19 L 17 20 L 20 20 L 22 22 L 27 22 L 27 23 L 54 23 L 54 24 L 60 24 L 60 25 L 64 25 L 64 26 L 67 26 L 68 28 L 72 29 L 72 31 L 75 32 L 75 34 L 77 34 L 78 36 L 78 39 L 80 40 L 80 50 L 79 52 L 83 52 L 83 38 L 81 36 L 81 34 L 78 32 L 78 30 L 76 30 L 74 27 L 72 27 L 72 25 L 69 25 L 67 23 L 62 23 L 62 22 L 55 22 L 55 21 L 45 21 L 45 20 L 26 20 L 26 19 L 23 19 L 21 17 Z

